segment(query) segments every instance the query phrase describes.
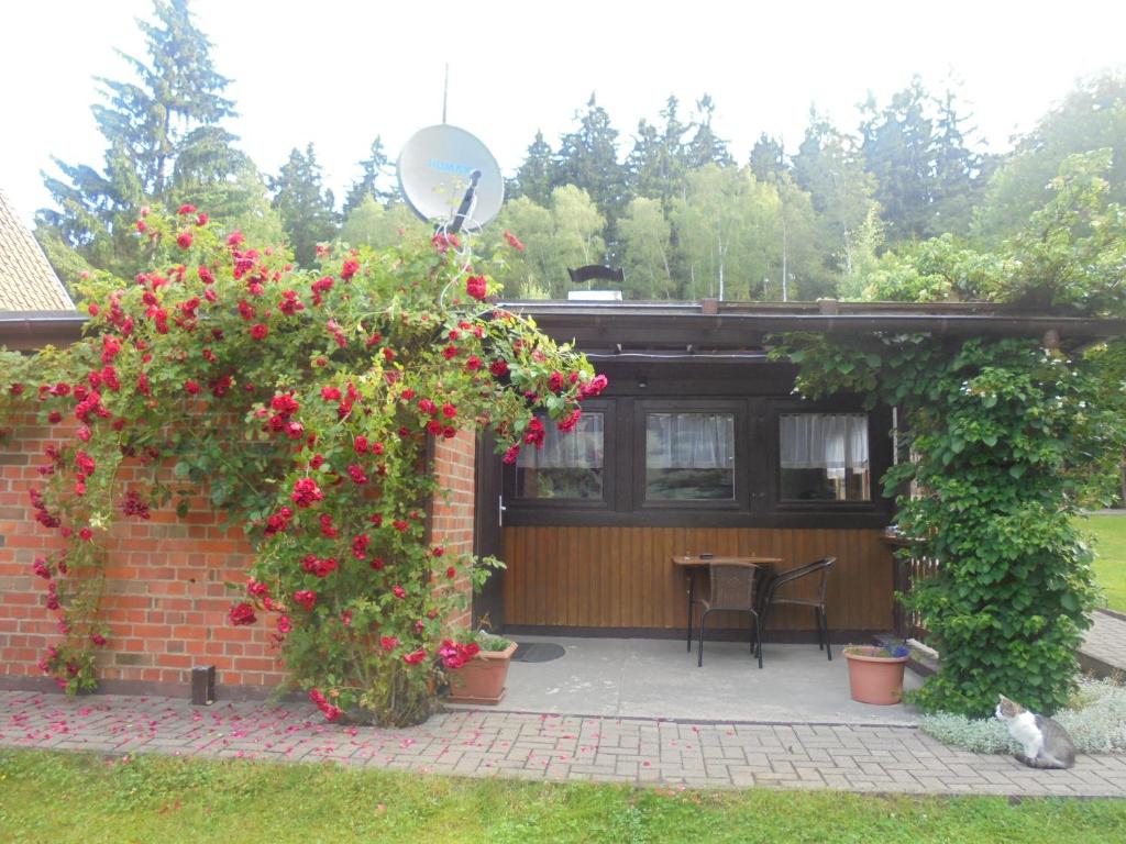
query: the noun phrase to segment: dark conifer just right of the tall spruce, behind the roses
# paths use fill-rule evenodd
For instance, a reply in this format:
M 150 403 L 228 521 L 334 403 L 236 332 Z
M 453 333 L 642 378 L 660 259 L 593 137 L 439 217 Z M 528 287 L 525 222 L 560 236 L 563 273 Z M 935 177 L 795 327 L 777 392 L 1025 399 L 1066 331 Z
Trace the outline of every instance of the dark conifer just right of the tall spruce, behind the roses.
M 289 161 L 270 180 L 270 189 L 294 258 L 302 267 L 311 267 L 316 244 L 331 241 L 337 233 L 332 191 L 321 185 L 321 165 L 313 144 L 305 147 L 304 154 L 294 147 Z

